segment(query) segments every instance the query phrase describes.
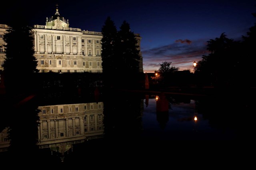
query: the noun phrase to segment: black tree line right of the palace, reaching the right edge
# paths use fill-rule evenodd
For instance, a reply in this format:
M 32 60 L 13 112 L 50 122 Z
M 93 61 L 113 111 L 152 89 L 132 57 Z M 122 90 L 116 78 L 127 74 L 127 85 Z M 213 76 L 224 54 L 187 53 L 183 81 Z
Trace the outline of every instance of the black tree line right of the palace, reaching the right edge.
M 256 13 L 252 14 L 256 17 Z M 195 66 L 194 74 L 183 77 L 192 80 L 198 86 L 216 88 L 250 88 L 256 86 L 256 23 L 249 28 L 242 40 L 229 39 L 225 32 L 220 37 L 207 41 L 208 55 Z M 171 66 L 172 62 L 160 64 L 157 76 L 152 76 L 154 84 L 172 85 L 179 68 Z

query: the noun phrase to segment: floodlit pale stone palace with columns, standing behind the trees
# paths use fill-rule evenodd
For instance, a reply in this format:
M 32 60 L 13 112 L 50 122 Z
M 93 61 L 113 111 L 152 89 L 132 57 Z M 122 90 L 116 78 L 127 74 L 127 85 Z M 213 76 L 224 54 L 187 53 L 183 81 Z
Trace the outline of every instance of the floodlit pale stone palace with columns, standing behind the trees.
M 33 26 L 31 36 L 34 38 L 37 69 L 40 72 L 102 72 L 102 33 L 69 26 L 58 8 L 54 16 L 46 18 L 46 25 Z M 0 24 L 0 70 L 3 70 L 3 36 L 7 29 L 10 29 L 7 25 Z M 139 34 L 135 36 L 140 50 L 141 37 Z M 140 56 L 140 72 L 143 72 L 141 52 Z

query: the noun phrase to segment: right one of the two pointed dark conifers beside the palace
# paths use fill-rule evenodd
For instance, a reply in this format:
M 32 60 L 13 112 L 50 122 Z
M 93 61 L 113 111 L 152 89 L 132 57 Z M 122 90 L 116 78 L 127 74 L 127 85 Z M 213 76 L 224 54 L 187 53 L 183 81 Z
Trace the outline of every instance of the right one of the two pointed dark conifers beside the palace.
M 139 72 L 140 51 L 137 40 L 130 29 L 130 24 L 123 21 L 118 31 L 118 66 L 119 71 L 132 75 Z

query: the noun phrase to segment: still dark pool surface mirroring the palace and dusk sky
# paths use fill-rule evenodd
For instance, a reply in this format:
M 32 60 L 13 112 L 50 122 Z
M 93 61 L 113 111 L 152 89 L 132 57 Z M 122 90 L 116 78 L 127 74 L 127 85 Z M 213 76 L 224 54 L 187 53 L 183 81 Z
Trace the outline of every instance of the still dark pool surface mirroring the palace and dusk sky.
M 236 141 L 241 137 L 238 115 L 246 113 L 246 107 L 236 101 L 168 93 L 102 94 L 98 89 L 82 95 L 44 93 L 12 111 L 8 104 L 2 107 L 2 113 L 12 115 L 1 121 L 11 131 L 8 137 L 8 127 L 1 125 L 0 156 L 22 159 L 27 152 L 39 162 L 47 158 L 47 162 L 69 164 L 85 159 L 97 162 L 107 153 L 115 158 L 126 153 L 149 156 L 185 141 Z

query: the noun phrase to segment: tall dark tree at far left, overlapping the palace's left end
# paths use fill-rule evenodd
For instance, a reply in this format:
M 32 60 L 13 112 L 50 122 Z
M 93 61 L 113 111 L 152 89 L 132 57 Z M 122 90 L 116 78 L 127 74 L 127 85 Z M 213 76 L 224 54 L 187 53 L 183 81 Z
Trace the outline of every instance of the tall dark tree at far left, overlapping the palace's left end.
M 4 83 L 8 92 L 26 92 L 34 88 L 37 61 L 33 37 L 26 22 L 10 23 L 4 35 L 6 59 L 3 63 Z

